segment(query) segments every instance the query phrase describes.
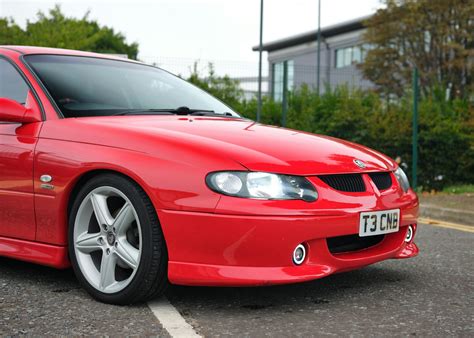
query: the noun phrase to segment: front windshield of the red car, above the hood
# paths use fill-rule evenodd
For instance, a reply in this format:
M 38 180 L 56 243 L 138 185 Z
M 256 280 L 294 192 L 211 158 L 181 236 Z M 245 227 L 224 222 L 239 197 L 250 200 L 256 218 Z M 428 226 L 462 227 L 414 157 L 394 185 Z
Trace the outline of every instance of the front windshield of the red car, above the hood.
M 239 117 L 198 87 L 152 66 L 66 55 L 25 60 L 66 118 L 182 112 Z

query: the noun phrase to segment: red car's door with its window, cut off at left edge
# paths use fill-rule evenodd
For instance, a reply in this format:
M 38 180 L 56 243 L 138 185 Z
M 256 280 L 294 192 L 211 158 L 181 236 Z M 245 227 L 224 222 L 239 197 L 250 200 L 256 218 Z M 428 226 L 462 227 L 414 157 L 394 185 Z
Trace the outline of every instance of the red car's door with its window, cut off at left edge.
M 1 55 L 0 97 L 37 105 L 27 102 L 34 100 L 27 82 Z M 33 159 L 41 124 L 0 120 L 0 237 L 35 239 Z

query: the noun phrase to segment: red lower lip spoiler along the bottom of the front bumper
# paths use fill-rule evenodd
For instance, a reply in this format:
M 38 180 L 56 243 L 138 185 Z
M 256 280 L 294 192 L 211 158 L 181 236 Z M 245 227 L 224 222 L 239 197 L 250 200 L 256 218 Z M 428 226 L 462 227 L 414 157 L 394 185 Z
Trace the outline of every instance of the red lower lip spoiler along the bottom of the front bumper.
M 292 284 L 323 278 L 338 272 L 359 269 L 386 259 L 415 257 L 419 250 L 416 244 L 411 242 L 402 244 L 402 247 L 396 252 L 364 257 L 370 250 L 364 251 L 359 252 L 359 255 L 357 253 L 338 255 L 336 258 L 338 264 L 308 263 L 301 266 L 285 267 L 169 262 L 168 275 L 170 281 L 178 285 L 237 287 Z

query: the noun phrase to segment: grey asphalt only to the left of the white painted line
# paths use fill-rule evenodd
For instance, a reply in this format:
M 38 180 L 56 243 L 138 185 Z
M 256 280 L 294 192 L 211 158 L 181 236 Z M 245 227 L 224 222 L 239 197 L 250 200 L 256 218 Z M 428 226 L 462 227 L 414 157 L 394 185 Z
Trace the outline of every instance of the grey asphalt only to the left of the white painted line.
M 71 269 L 0 258 L 0 337 L 167 336 L 146 304 L 112 306 L 83 291 Z

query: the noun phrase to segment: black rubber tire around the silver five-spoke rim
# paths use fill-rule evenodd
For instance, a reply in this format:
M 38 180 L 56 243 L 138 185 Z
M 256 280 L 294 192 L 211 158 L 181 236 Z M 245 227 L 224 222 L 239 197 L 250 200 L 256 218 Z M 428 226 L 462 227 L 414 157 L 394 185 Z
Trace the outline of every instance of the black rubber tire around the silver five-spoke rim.
M 74 224 L 82 201 L 98 187 L 120 190 L 135 208 L 142 232 L 142 252 L 138 269 L 130 284 L 117 293 L 103 293 L 84 277 L 74 249 Z M 84 289 L 95 299 L 109 304 L 141 303 L 161 295 L 167 285 L 168 253 L 161 226 L 150 199 L 134 181 L 118 174 L 101 174 L 90 179 L 74 199 L 69 214 L 69 256 L 74 272 Z

